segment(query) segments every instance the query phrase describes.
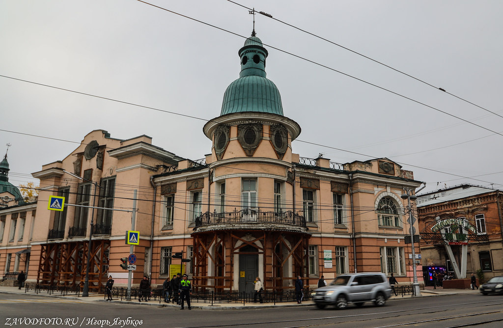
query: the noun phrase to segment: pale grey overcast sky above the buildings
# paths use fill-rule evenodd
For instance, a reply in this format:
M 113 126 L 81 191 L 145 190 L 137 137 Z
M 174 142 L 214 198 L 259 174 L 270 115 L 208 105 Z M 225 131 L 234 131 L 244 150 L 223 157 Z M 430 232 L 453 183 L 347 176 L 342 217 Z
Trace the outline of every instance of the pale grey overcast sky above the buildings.
M 258 15 L 267 77 L 302 128 L 294 153 L 340 163 L 387 157 L 426 181 L 423 191 L 437 183 L 503 188 L 503 2 L 236 2 L 433 85 Z M 225 0 L 150 3 L 241 36 L 253 29 L 248 10 Z M 204 120 L 220 114 L 238 78 L 245 39 L 235 34 L 134 0 L 0 0 L 0 75 L 201 118 L 0 77 L 10 181 L 37 181 L 32 172 L 78 146 L 18 133 L 79 143 L 105 129 L 203 158 L 211 152 Z

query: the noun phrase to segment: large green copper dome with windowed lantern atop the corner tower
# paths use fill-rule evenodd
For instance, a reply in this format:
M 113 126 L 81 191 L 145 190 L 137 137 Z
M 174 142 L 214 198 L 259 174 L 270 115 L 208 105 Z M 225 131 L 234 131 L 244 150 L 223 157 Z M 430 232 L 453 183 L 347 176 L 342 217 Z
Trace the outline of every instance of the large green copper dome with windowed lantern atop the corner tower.
M 239 79 L 225 90 L 220 115 L 240 112 L 263 112 L 283 116 L 281 95 L 276 85 L 266 78 L 267 49 L 252 34 L 239 49 Z

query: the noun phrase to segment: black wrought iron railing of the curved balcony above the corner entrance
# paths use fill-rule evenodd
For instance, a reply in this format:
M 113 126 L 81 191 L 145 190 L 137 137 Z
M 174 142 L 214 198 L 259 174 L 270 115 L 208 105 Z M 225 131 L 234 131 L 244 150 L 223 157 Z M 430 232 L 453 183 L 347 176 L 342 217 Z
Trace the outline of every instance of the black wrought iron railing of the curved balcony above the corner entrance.
M 286 212 L 263 212 L 260 209 L 234 210 L 233 212 L 206 212 L 198 216 L 195 220 L 196 228 L 209 224 L 222 223 L 276 223 L 290 224 L 300 227 L 306 227 L 306 219 L 294 213 Z

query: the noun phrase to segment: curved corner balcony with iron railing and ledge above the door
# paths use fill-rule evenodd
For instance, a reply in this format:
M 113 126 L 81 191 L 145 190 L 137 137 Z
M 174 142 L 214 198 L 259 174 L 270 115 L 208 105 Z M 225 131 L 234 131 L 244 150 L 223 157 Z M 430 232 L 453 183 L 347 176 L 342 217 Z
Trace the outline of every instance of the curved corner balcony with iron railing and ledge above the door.
M 307 232 L 306 219 L 293 211 L 265 212 L 243 209 L 232 212 L 203 213 L 195 219 L 194 232 L 212 230 L 279 230 Z

